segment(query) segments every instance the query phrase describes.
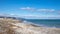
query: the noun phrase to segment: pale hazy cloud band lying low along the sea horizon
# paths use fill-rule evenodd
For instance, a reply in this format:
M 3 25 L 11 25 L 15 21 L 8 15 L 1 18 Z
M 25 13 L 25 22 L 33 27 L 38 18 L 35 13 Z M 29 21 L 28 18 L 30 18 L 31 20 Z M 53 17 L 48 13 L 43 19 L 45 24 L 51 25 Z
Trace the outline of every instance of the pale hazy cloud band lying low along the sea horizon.
M 60 19 L 59 15 L 23 15 L 22 18 L 27 19 Z

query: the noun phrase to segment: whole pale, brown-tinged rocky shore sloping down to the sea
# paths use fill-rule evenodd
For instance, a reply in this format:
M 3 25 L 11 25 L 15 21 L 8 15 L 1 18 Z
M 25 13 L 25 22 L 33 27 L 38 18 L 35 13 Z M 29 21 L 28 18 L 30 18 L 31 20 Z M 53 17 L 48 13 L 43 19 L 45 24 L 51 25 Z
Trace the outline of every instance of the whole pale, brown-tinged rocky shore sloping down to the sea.
M 0 34 L 60 34 L 60 28 L 40 27 L 16 19 L 0 18 Z

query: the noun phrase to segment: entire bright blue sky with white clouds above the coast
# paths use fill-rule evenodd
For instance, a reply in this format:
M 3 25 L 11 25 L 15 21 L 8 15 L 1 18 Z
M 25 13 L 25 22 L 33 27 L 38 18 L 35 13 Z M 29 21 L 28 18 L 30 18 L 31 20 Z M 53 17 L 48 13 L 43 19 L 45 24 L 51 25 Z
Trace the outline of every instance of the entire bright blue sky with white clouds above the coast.
M 60 0 L 0 0 L 0 15 L 60 19 Z

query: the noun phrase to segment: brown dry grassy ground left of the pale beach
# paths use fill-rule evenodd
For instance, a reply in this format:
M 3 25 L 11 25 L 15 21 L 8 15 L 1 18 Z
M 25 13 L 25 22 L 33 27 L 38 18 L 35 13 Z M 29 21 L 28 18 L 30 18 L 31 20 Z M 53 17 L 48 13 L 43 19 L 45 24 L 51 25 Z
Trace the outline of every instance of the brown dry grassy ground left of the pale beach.
M 0 34 L 14 34 L 14 31 L 12 30 L 12 24 L 10 23 L 18 23 L 19 20 L 14 19 L 6 19 L 6 18 L 0 18 Z

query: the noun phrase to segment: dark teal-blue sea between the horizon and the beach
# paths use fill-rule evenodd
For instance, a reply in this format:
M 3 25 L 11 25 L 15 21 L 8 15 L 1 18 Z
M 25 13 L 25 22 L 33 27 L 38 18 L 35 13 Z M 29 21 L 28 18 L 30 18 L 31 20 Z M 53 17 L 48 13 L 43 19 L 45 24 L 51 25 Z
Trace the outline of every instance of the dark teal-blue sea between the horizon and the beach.
M 44 27 L 60 28 L 60 19 L 26 19 L 26 21 Z

